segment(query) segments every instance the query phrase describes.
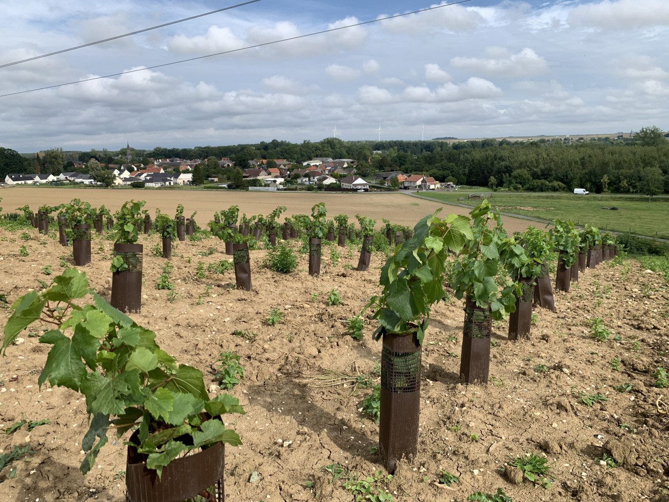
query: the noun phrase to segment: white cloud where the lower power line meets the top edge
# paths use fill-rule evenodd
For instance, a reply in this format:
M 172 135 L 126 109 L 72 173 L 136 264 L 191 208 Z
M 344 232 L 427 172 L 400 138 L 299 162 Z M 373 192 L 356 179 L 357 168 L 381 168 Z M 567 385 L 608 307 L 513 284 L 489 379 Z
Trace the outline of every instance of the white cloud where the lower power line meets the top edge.
M 430 5 L 448 5 L 447 2 Z M 387 14 L 379 15 L 388 17 Z M 486 23 L 484 17 L 476 9 L 468 9 L 461 5 L 450 5 L 430 11 L 422 11 L 403 17 L 395 17 L 381 21 L 381 26 L 391 33 L 408 33 L 409 35 L 423 36 L 425 32 L 450 31 L 461 33 L 474 31 Z

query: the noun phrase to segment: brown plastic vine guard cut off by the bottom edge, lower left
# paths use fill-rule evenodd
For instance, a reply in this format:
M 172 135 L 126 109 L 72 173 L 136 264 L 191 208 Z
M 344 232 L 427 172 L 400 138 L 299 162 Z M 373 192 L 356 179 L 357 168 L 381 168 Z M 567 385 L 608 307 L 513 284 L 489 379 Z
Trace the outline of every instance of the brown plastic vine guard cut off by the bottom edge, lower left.
M 187 442 L 188 438 L 177 439 Z M 130 441 L 138 442 L 138 431 L 130 436 Z M 147 455 L 128 446 L 126 501 L 182 502 L 197 496 L 203 502 L 225 501 L 225 444 L 222 442 L 175 458 L 163 467 L 160 478 L 156 471 L 147 469 L 146 460 Z

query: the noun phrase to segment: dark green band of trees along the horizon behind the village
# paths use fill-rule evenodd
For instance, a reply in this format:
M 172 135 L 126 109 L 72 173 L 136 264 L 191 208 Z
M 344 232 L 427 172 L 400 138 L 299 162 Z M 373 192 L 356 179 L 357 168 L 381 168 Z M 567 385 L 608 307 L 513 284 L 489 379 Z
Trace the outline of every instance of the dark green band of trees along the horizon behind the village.
M 92 150 L 77 155 L 84 162 L 93 158 L 101 163 L 124 163 L 126 149 Z M 239 173 L 218 167 L 217 161 L 226 157 L 236 167 L 248 165 L 250 160 L 286 159 L 302 163 L 314 157 L 332 157 L 357 161 L 357 172 L 363 177 L 403 171 L 490 189 L 571 191 L 579 187 L 595 193 L 669 193 L 669 141 L 657 127 L 643 128 L 632 138 L 583 142 L 565 139 L 347 142 L 327 138 L 315 143 L 272 140 L 192 149 L 155 147 L 150 151 L 133 149 L 132 155 L 133 162 L 145 164 L 151 158 L 200 159 L 202 171 L 197 173 L 198 181 L 217 175 L 238 178 Z M 121 158 L 114 159 L 118 156 Z M 35 172 L 38 165 L 40 169 L 58 173 L 66 167 L 66 154 L 51 149 L 41 157 L 28 159 L 11 149 L 0 148 L 3 178 L 9 172 Z

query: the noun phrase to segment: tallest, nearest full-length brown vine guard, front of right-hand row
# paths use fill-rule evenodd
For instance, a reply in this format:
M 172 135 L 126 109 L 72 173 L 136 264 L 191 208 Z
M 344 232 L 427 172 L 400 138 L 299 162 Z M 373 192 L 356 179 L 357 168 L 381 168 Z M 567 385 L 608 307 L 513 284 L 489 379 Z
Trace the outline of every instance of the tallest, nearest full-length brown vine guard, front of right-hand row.
M 388 473 L 418 451 L 421 353 L 415 333 L 383 333 L 379 452 Z

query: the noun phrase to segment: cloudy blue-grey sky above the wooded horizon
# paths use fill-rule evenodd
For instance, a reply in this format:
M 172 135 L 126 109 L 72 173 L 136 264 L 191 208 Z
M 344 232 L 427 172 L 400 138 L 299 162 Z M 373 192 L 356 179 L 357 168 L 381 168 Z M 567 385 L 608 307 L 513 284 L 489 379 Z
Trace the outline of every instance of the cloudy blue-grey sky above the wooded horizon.
M 3 0 L 0 64 L 243 0 Z M 260 0 L 0 68 L 19 152 L 669 129 L 669 0 Z M 336 133 L 334 132 L 337 128 Z

